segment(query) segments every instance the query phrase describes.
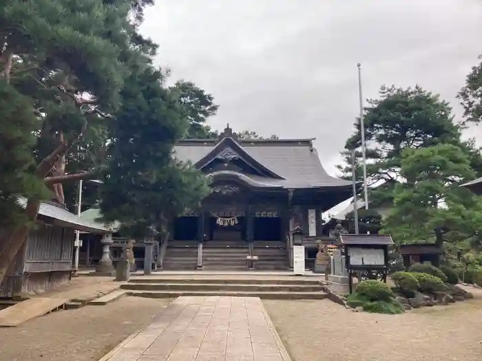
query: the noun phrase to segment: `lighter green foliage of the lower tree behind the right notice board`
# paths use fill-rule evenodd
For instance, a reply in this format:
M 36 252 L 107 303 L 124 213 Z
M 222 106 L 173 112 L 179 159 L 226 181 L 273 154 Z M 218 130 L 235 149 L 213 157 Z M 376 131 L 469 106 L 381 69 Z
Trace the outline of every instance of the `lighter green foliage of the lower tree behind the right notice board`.
M 482 231 L 482 204 L 459 187 L 474 176 L 468 156 L 451 144 L 437 144 L 402 153 L 401 175 L 392 193 L 394 208 L 382 232 L 397 243 L 454 241 L 477 237 Z M 443 206 L 444 204 L 444 206 Z

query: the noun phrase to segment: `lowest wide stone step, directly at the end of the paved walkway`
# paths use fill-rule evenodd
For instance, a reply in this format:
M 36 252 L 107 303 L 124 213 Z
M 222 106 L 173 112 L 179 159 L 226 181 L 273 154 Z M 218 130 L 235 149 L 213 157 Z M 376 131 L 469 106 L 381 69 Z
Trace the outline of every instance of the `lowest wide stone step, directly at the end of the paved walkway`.
M 180 296 L 238 296 L 268 300 L 322 300 L 324 292 L 249 292 L 249 291 L 129 291 L 129 296 L 146 298 L 176 298 Z

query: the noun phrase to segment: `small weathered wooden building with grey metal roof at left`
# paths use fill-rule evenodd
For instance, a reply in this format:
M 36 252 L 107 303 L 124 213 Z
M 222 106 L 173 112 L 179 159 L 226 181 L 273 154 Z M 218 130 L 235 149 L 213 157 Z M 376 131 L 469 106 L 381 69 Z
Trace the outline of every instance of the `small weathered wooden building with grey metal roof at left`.
M 25 207 L 26 203 L 27 199 L 19 199 L 21 206 Z M 12 298 L 70 281 L 75 230 L 94 234 L 110 232 L 107 228 L 77 217 L 60 204 L 43 202 L 36 227 L 30 232 L 0 285 L 0 297 Z

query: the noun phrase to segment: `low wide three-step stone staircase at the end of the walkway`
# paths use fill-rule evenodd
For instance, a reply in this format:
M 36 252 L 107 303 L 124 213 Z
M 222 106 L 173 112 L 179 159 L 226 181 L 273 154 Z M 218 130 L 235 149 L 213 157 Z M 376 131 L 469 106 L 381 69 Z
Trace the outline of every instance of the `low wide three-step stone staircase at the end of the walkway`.
M 255 276 L 153 276 L 132 277 L 121 285 L 129 296 L 174 298 L 178 296 L 252 296 L 265 299 L 322 299 L 328 294 L 315 278 Z

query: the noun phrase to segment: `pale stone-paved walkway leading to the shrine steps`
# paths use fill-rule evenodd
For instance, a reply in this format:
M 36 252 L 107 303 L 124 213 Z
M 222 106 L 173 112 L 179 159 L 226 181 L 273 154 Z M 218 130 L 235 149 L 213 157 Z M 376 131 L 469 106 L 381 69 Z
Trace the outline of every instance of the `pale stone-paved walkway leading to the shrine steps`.
M 179 297 L 101 361 L 291 361 L 258 297 Z

